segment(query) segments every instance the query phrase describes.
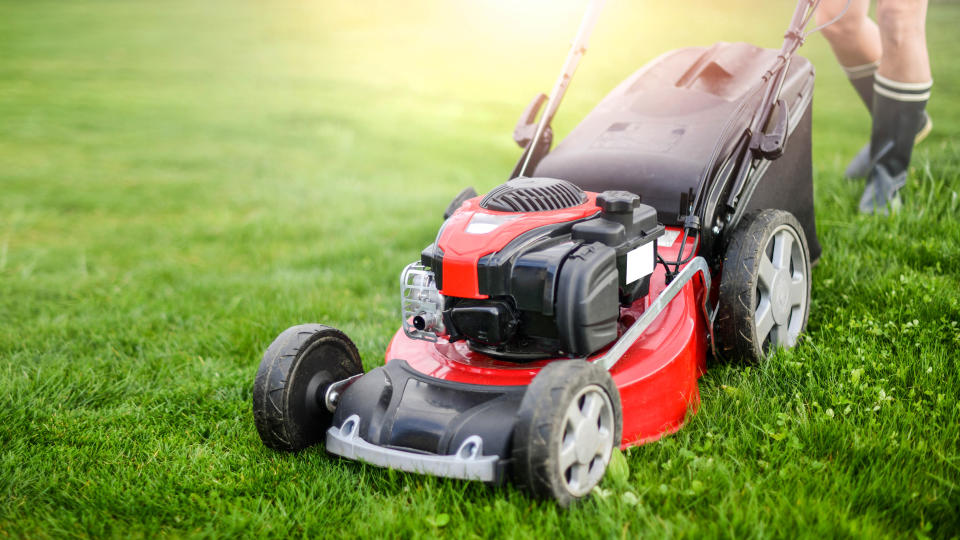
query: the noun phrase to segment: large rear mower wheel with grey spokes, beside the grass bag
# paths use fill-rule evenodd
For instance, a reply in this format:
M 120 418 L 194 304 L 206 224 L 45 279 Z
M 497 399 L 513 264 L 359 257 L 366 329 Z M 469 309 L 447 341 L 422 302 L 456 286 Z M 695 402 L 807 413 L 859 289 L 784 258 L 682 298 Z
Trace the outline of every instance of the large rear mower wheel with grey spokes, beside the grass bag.
M 756 363 L 797 344 L 810 313 L 810 249 L 783 210 L 744 216 L 723 259 L 714 333 L 722 354 Z

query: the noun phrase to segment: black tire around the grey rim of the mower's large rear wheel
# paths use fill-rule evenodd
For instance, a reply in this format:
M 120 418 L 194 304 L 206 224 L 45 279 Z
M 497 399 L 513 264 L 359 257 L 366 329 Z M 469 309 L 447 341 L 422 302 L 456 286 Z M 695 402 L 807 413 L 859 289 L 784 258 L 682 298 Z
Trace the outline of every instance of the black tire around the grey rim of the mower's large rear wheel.
M 728 238 L 720 277 L 719 304 L 713 331 L 717 351 L 723 359 L 748 364 L 762 362 L 768 353 L 757 338 L 755 310 L 759 302 L 760 257 L 781 226 L 793 229 L 800 240 L 805 265 L 806 304 L 800 333 L 810 315 L 810 248 L 803 227 L 785 210 L 757 210 L 744 215 Z

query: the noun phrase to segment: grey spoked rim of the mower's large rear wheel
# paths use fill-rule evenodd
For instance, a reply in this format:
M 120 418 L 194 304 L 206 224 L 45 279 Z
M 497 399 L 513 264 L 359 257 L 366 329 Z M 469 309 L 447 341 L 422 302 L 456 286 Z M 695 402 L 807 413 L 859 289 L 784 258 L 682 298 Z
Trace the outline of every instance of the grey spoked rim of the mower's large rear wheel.
M 807 262 L 793 227 L 777 227 L 760 253 L 754 321 L 766 353 L 797 344 L 807 311 Z

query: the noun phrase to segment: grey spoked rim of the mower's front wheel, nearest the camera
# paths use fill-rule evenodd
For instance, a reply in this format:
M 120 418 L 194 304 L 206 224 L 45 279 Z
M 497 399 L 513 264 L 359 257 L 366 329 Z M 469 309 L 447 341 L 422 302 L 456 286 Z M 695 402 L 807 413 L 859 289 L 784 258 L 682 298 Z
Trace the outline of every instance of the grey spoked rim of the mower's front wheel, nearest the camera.
M 564 488 L 574 497 L 603 478 L 613 452 L 613 404 L 597 385 L 581 389 L 563 413 L 558 465 Z

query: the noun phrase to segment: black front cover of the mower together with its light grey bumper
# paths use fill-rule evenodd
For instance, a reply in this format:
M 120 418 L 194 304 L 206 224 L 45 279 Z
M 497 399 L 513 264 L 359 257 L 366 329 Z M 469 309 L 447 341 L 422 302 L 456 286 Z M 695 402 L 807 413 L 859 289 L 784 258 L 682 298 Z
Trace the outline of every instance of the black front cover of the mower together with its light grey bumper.
M 499 483 L 525 390 L 438 379 L 394 359 L 343 391 L 326 448 L 380 467 Z

